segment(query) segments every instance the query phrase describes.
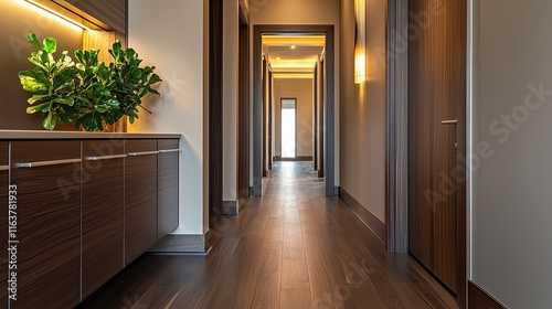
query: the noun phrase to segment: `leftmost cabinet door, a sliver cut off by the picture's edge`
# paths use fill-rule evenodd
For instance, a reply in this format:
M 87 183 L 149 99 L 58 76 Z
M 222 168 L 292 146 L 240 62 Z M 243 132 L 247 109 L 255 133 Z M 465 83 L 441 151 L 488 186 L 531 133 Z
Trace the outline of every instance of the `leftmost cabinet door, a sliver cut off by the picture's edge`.
M 0 212 L 0 242 L 2 243 L 0 256 L 0 278 L 2 278 L 0 280 L 0 308 L 8 308 L 8 281 L 6 278 L 8 278 L 9 145 L 8 141 L 0 141 L 0 201 L 2 201 L 2 205 L 6 205 Z

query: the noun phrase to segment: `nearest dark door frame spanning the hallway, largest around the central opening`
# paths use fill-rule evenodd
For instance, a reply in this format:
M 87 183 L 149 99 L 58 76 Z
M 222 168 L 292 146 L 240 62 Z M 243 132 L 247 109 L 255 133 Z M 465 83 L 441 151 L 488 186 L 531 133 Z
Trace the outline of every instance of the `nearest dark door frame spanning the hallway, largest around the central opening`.
M 325 34 L 326 35 L 326 195 L 336 196 L 336 128 L 335 128 L 335 30 L 328 24 L 256 24 L 253 26 L 253 194 L 263 195 L 263 34 Z

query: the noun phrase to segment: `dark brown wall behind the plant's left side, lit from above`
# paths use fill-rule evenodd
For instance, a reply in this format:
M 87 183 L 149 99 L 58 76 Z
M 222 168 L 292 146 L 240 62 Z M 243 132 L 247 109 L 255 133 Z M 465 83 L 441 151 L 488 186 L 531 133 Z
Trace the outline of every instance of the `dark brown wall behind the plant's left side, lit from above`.
M 42 115 L 28 115 L 26 99 L 31 94 L 23 90 L 18 72 L 34 66 L 26 60 L 35 47 L 26 42 L 28 32 L 34 32 L 42 41 L 45 36 L 57 40 L 57 55 L 62 51 L 82 49 L 83 31 L 47 13 L 36 10 L 24 1 L 0 1 L 0 129 L 42 129 Z M 106 51 L 107 52 L 107 51 Z M 73 130 L 72 125 L 56 129 Z

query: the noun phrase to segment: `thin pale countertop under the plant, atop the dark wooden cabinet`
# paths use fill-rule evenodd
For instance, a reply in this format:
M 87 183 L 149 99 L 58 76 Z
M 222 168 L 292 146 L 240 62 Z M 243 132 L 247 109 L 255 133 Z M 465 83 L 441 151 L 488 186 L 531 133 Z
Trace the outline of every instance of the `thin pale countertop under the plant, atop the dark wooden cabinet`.
M 181 134 L 160 132 L 85 132 L 85 131 L 41 131 L 41 130 L 0 130 L 0 140 L 18 139 L 163 139 L 181 138 Z

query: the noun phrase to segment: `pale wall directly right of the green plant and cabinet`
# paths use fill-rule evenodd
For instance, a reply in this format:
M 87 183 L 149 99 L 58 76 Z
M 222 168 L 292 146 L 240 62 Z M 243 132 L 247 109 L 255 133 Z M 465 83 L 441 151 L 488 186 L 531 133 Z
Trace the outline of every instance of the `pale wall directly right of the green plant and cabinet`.
M 131 0 L 128 43 L 144 64 L 156 65 L 161 97 L 145 104 L 131 132 L 182 134 L 180 145 L 180 225 L 174 234 L 206 232 L 204 191 L 204 1 Z M 206 191 L 206 190 L 205 190 Z

